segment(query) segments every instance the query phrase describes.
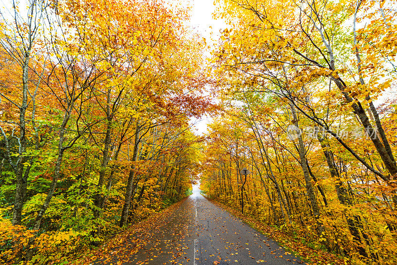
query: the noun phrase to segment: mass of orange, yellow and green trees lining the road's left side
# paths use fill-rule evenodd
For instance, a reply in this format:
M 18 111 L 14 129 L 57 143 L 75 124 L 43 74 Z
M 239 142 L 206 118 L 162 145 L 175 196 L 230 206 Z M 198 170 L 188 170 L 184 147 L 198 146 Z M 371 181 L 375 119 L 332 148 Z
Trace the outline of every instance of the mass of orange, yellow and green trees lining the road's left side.
M 15 108 L 23 93 L 13 89 L 24 88 L 17 78 L 22 61 L 10 49 L 25 35 L 11 27 L 1 35 L 1 73 L 7 73 L 1 77 L 1 148 L 7 152 L 1 153 L 0 259 L 63 263 L 188 194 L 201 140 L 189 119 L 214 105 L 201 95 L 203 41 L 188 35 L 188 11 L 181 6 L 30 4 L 40 23 L 29 19 L 43 30 L 35 35 L 37 48 L 29 48 L 24 114 Z M 8 17 L 2 19 L 6 25 Z M 18 129 L 20 115 L 25 130 Z M 24 138 L 17 133 L 23 131 Z M 20 141 L 25 151 L 17 151 L 18 139 L 26 139 Z M 17 158 L 25 159 L 20 205 L 9 195 L 19 183 Z M 11 211 L 19 223 L 9 222 Z

